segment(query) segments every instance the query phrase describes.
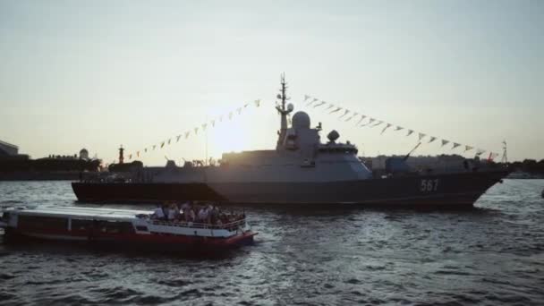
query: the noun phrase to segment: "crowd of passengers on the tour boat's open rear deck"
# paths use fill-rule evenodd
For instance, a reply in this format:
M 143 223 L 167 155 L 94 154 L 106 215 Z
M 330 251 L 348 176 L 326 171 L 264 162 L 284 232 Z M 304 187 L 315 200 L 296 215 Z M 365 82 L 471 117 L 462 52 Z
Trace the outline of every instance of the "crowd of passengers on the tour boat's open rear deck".
M 245 218 L 245 214 L 226 213 L 211 204 L 198 205 L 193 202 L 168 203 L 157 206 L 151 218 L 172 222 L 194 222 L 207 225 L 226 225 Z

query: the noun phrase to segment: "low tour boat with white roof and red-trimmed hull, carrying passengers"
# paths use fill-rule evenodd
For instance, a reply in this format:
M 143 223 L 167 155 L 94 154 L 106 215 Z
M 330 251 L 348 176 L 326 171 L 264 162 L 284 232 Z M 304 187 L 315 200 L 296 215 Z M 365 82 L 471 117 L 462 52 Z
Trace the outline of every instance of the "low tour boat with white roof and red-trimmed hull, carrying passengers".
M 167 221 L 132 209 L 38 207 L 9 208 L 0 221 L 8 241 L 111 242 L 144 249 L 227 249 L 251 244 L 257 233 L 245 217 L 222 225 Z

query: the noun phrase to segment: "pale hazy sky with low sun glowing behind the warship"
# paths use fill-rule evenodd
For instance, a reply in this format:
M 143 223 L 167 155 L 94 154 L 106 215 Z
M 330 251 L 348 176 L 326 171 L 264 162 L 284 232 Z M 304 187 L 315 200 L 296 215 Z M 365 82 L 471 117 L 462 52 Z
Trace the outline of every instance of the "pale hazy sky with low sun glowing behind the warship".
M 0 61 L 0 140 L 33 158 L 86 148 L 111 163 L 194 127 L 138 159 L 274 149 L 282 72 L 295 111 L 361 155 L 405 154 L 424 132 L 544 158 L 538 0 L 0 0 Z M 358 127 L 304 95 L 416 132 Z M 428 140 L 415 155 L 474 155 Z

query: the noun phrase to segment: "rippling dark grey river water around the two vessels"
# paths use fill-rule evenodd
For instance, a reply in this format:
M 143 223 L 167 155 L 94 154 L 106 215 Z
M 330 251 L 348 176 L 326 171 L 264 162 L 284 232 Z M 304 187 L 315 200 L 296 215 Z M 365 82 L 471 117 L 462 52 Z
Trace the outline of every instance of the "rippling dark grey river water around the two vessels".
M 463 211 L 245 208 L 255 245 L 213 258 L 0 243 L 0 303 L 541 305 L 543 188 L 505 180 Z M 3 207 L 74 200 L 0 182 Z

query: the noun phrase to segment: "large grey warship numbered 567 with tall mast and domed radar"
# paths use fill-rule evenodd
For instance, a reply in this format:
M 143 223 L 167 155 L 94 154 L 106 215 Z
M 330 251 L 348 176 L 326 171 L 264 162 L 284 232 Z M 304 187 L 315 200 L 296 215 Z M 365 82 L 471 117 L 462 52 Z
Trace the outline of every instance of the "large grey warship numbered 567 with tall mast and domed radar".
M 213 200 L 237 204 L 364 204 L 396 207 L 472 207 L 473 203 L 508 174 L 504 167 L 483 168 L 467 161 L 455 171 L 413 171 L 406 158 L 387 161 L 377 173 L 357 156 L 350 141 L 338 141 L 336 131 L 322 142 L 321 123 L 298 111 L 291 124 L 293 104 L 287 103 L 281 79 L 281 116 L 276 149 L 223 154 L 217 166 L 185 162 L 176 166 L 136 167 L 123 175 L 73 182 L 80 201 L 149 202 Z

